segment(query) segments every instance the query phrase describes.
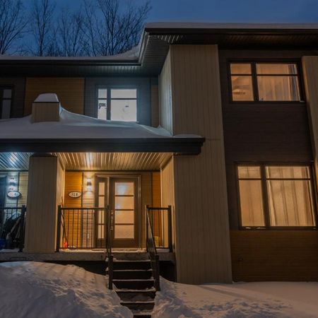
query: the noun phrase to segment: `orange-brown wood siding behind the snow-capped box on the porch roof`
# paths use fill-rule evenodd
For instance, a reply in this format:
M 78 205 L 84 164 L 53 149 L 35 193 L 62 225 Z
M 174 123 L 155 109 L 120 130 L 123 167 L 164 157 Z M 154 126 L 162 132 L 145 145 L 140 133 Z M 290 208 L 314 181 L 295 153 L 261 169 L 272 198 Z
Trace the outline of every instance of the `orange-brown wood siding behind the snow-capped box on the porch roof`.
M 84 78 L 26 78 L 24 115 L 31 113 L 32 103 L 42 93 L 56 93 L 61 106 L 66 110 L 77 114 L 84 113 Z

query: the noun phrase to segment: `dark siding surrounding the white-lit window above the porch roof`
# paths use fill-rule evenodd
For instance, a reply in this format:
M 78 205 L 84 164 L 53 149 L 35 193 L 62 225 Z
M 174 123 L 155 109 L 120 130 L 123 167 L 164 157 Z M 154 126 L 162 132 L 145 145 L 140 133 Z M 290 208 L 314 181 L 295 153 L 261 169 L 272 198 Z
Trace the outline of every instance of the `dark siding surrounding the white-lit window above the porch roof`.
M 136 87 L 138 89 L 137 120 L 151 126 L 151 78 L 89 77 L 85 83 L 85 114 L 97 117 L 96 93 L 98 86 Z

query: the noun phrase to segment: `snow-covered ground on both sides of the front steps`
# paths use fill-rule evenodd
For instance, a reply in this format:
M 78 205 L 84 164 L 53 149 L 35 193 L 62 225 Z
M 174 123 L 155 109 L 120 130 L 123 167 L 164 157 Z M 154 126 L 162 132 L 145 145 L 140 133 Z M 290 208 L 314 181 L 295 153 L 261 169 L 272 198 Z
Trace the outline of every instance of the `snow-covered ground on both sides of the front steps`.
M 105 276 L 78 266 L 0 264 L 0 317 L 132 317 Z M 318 317 L 318 283 L 184 285 L 160 280 L 153 318 Z

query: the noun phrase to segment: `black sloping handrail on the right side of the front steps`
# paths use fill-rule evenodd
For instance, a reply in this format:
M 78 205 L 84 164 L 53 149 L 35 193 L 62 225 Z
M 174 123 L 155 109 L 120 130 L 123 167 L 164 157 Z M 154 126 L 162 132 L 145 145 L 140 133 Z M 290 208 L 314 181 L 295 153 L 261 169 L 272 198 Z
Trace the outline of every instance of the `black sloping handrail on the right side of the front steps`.
M 151 269 L 153 270 L 153 279 L 155 280 L 155 290 L 160 290 L 159 255 L 155 248 L 153 227 L 149 218 L 148 206 L 146 206 L 146 247 L 151 260 Z

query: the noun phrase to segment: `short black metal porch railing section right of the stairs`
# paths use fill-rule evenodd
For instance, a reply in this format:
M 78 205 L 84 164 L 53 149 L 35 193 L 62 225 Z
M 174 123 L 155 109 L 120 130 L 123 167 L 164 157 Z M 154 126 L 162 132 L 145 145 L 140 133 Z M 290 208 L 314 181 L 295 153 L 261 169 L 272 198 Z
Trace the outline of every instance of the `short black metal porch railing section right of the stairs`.
M 172 216 L 171 206 L 155 208 L 146 206 L 151 226 L 153 240 L 157 249 L 168 249 L 172 252 Z

